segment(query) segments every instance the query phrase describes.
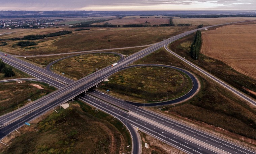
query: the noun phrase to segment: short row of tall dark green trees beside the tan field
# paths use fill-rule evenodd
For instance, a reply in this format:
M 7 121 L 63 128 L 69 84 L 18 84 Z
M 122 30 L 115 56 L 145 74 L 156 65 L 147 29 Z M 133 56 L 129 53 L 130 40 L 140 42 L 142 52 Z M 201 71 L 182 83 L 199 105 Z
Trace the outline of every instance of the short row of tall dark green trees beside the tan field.
M 191 48 L 190 48 L 190 55 L 191 55 L 191 58 L 193 58 L 194 60 L 198 59 L 201 45 L 202 45 L 201 31 L 197 30 L 195 40 L 191 44 Z

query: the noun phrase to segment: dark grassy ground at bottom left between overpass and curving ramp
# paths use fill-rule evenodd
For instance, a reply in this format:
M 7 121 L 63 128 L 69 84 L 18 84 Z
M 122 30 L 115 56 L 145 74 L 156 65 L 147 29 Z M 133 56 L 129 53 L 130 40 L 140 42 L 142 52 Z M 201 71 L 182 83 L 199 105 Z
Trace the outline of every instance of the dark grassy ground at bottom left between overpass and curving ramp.
M 31 127 L 23 126 L 8 147 L 7 153 L 126 153 L 130 134 L 123 124 L 108 114 L 83 102 L 72 102 Z M 4 142 L 4 141 L 3 141 Z

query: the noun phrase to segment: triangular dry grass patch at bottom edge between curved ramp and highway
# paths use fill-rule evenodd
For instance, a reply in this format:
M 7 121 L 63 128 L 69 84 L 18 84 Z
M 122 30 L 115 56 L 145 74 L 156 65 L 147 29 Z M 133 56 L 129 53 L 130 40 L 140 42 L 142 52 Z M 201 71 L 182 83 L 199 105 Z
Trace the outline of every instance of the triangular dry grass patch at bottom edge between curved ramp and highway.
M 146 133 L 139 131 L 139 135 L 142 143 L 142 154 L 185 154 L 185 152 L 165 144 Z M 145 147 L 145 143 L 148 144 L 148 149 Z

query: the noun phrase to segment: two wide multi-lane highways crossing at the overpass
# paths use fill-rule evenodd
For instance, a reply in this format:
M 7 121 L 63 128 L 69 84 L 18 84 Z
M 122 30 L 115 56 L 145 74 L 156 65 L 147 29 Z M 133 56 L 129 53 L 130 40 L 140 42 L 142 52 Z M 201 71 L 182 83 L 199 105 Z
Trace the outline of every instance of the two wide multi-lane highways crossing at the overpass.
M 188 126 L 184 126 L 179 122 L 170 120 L 156 113 L 147 111 L 143 108 L 136 107 L 136 104 L 132 105 L 131 103 L 127 103 L 126 101 L 111 97 L 109 95 L 102 96 L 99 91 L 95 90 L 89 90 L 87 94 L 84 93 L 86 89 L 89 89 L 90 87 L 104 80 L 109 75 L 121 69 L 124 69 L 128 64 L 194 31 L 196 30 L 188 31 L 180 35 L 171 37 L 168 40 L 162 41 L 156 45 L 153 45 L 147 49 L 135 53 L 127 57 L 126 59 L 123 59 L 123 57 L 121 56 L 122 58 L 118 62 L 118 65 L 116 67 L 111 68 L 109 66 L 103 68 L 102 70 L 99 70 L 96 73 L 75 82 L 63 76 L 57 75 L 53 72 L 44 70 L 30 63 L 19 60 L 17 58 L 11 56 L 5 57 L 1 53 L 0 58 L 7 64 L 10 64 L 38 79 L 41 79 L 42 82 L 47 82 L 60 89 L 47 96 L 44 96 L 41 99 L 38 99 L 37 101 L 29 105 L 22 107 L 19 110 L 1 116 L 0 125 L 2 125 L 2 128 L 0 129 L 0 137 L 3 138 L 13 130 L 17 129 L 19 127 L 19 124 L 23 125 L 24 122 L 31 121 L 35 117 L 43 114 L 47 110 L 52 109 L 56 105 L 65 102 L 73 97 L 77 97 L 77 95 L 80 94 L 78 95 L 78 99 L 84 100 L 85 102 L 94 105 L 95 107 L 119 118 L 125 125 L 127 125 L 126 122 L 128 122 L 128 124 L 132 124 L 133 126 L 140 128 L 142 131 L 145 131 L 152 136 L 155 136 L 156 138 L 165 141 L 166 143 L 182 149 L 187 153 L 254 153 L 251 150 L 223 141 L 222 139 L 216 138 L 205 132 L 201 132 Z M 173 52 L 171 53 L 174 54 Z M 197 67 L 197 69 L 200 68 Z M 205 72 L 205 74 L 209 75 L 209 73 L 207 72 Z M 218 79 L 216 81 L 218 82 Z M 226 84 L 224 83 L 224 86 L 225 85 Z M 131 111 L 131 113 L 134 112 L 134 114 L 110 105 L 103 100 L 110 102 L 111 104 L 120 106 L 121 108 L 124 108 L 126 110 L 129 110 Z M 20 117 L 20 119 L 17 119 L 18 117 Z M 152 119 L 155 120 L 150 121 Z M 179 136 L 179 133 L 175 131 L 173 132 L 173 130 L 182 134 Z M 134 135 L 132 136 L 134 137 Z M 136 146 L 136 139 L 133 139 L 133 142 L 133 145 Z M 137 153 L 136 148 L 133 152 Z

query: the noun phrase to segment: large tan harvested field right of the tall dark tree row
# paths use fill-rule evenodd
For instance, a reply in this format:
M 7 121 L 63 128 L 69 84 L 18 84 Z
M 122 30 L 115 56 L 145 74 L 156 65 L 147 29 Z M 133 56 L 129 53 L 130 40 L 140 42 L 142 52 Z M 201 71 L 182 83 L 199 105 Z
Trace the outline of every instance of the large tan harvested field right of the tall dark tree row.
M 202 33 L 204 55 L 256 79 L 256 25 L 229 25 Z

